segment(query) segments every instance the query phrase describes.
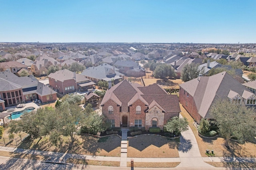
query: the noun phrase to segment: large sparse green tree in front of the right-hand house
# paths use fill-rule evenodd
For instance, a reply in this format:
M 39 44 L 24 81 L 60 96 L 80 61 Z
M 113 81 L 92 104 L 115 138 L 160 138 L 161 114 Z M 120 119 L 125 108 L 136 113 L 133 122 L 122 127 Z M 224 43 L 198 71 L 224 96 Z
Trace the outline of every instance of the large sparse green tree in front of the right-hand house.
M 210 115 L 215 117 L 218 132 L 225 139 L 225 146 L 235 137 L 240 142 L 255 140 L 256 121 L 253 107 L 228 100 L 218 100 L 210 107 Z

